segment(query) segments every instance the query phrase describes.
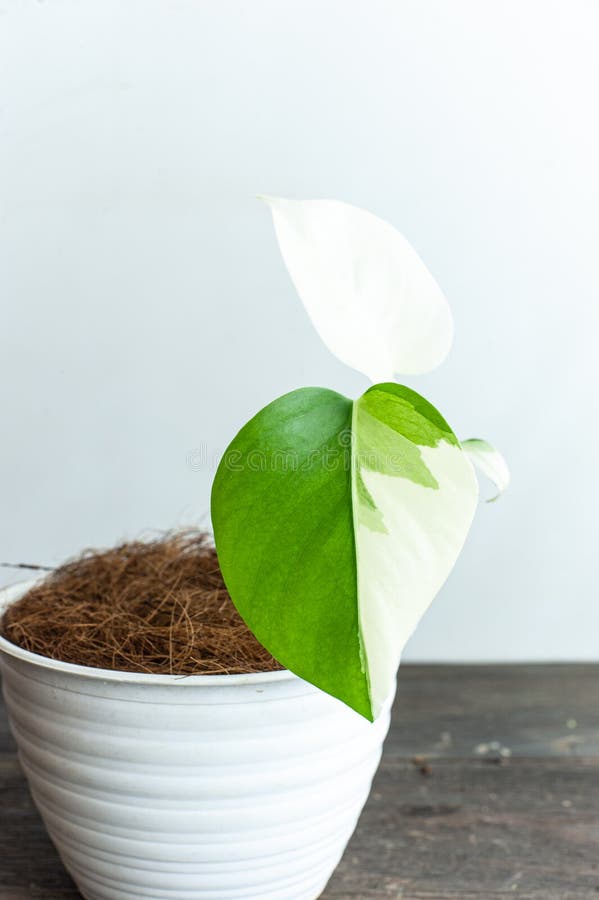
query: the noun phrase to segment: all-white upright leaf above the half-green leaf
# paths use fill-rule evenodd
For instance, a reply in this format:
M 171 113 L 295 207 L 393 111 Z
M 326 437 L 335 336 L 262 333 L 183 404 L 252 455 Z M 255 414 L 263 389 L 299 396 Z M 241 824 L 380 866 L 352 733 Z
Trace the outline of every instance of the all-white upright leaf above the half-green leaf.
M 335 356 L 373 382 L 419 375 L 445 359 L 449 305 L 398 231 L 335 200 L 263 199 L 297 292 Z

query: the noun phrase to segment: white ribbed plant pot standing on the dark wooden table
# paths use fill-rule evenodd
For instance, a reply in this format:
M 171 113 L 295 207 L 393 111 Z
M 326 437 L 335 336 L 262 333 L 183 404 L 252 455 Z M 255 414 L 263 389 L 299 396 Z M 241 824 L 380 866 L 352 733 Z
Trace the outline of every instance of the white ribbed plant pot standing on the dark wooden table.
M 0 592 L 6 605 L 28 585 Z M 146 675 L 0 638 L 33 799 L 87 900 L 314 900 L 389 726 L 288 671 Z

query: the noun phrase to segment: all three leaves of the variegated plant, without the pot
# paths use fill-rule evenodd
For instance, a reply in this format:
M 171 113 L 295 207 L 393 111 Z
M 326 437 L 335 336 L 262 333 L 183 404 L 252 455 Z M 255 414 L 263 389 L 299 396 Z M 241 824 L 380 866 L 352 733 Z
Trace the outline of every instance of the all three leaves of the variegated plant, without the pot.
M 466 538 L 478 498 L 472 461 L 500 489 L 507 468 L 486 442 L 461 445 L 427 400 L 392 381 L 438 365 L 453 331 L 407 241 L 346 204 L 268 202 L 318 333 L 384 380 L 355 401 L 293 391 L 241 429 L 213 485 L 218 557 L 258 640 L 372 720 Z

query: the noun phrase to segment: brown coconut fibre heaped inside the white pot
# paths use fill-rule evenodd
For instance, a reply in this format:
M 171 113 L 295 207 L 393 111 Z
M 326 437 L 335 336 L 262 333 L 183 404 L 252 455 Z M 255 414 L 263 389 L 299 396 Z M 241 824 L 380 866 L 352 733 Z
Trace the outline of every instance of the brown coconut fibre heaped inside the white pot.
M 0 630 L 33 653 L 126 672 L 282 668 L 241 619 L 216 551 L 197 531 L 87 551 L 13 603 Z

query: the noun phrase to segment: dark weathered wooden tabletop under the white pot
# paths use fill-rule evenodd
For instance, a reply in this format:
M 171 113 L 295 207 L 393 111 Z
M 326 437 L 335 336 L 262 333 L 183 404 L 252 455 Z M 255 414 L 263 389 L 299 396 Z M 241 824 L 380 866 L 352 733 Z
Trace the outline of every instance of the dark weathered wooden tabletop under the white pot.
M 75 900 L 0 716 L 0 900 Z M 403 666 L 322 900 L 599 900 L 599 665 Z

